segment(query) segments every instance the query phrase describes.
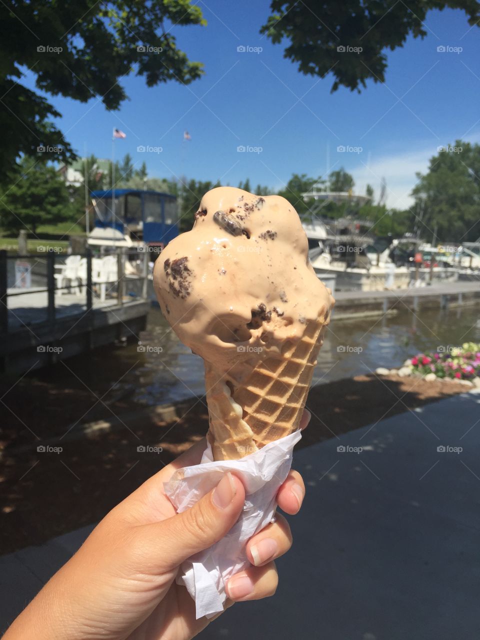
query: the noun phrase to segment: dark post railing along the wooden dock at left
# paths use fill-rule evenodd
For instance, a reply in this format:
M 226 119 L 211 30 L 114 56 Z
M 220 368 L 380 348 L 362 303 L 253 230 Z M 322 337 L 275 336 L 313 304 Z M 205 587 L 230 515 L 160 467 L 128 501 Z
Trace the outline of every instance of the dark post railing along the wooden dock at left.
M 47 293 L 47 322 L 54 323 L 56 319 L 56 299 L 55 294 L 58 291 L 69 291 L 72 288 L 77 289 L 86 289 L 86 311 L 90 311 L 93 308 L 93 294 L 94 287 L 97 285 L 107 285 L 111 284 L 109 291 L 116 287 L 116 305 L 122 306 L 124 304 L 124 296 L 125 296 L 125 275 L 128 276 L 129 282 L 132 280 L 141 280 L 143 281 L 143 285 L 141 287 L 140 299 L 147 299 L 147 291 L 148 291 L 148 257 L 149 253 L 146 250 L 138 251 L 137 249 L 131 250 L 126 248 L 118 248 L 115 252 L 104 253 L 102 256 L 106 255 L 116 255 L 117 258 L 117 273 L 116 280 L 104 280 L 99 281 L 93 280 L 92 277 L 92 264 L 93 258 L 96 257 L 92 254 L 92 250 L 87 249 L 86 253 L 72 253 L 69 255 L 77 255 L 81 258 L 86 259 L 86 281 L 79 282 L 76 285 L 72 285 L 71 283 L 67 286 L 57 287 L 55 282 L 55 262 L 56 259 L 61 258 L 62 256 L 56 254 L 55 252 L 49 252 L 46 255 L 42 255 L 41 257 L 36 254 L 26 254 L 26 255 L 8 255 L 5 250 L 0 251 L 0 332 L 8 333 L 8 298 L 12 298 L 13 296 L 25 296 L 35 293 Z M 134 275 L 132 273 L 125 274 L 125 260 L 129 257 L 129 255 L 135 255 L 138 260 L 140 257 L 141 260 L 141 273 L 139 275 Z M 35 287 L 35 291 L 32 291 L 32 287 L 29 287 L 26 291 L 8 291 L 8 260 L 36 260 L 36 264 L 43 260 L 46 260 L 46 287 Z M 34 265 L 35 266 L 35 265 Z M 30 271 L 33 267 L 30 269 Z M 15 284 L 17 284 L 15 282 Z

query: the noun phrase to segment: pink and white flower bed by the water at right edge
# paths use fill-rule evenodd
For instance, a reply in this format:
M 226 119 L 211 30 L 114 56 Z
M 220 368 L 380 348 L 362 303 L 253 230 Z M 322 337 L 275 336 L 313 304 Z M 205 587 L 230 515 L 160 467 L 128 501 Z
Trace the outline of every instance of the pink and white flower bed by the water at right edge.
M 480 344 L 464 342 L 461 347 L 438 348 L 436 353 L 419 353 L 407 360 L 412 374 L 472 381 L 480 376 Z M 432 376 L 433 377 L 433 376 Z

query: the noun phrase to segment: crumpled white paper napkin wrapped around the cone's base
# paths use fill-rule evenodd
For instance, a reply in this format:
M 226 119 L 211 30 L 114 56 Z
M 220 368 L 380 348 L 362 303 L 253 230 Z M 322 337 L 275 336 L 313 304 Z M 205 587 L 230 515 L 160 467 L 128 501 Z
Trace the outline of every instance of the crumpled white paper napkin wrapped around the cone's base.
M 177 470 L 165 483 L 166 495 L 179 513 L 211 491 L 227 471 L 234 471 L 245 486 L 245 505 L 236 524 L 224 538 L 189 558 L 180 568 L 177 582 L 186 586 L 195 600 L 197 620 L 223 611 L 227 599 L 225 583 L 234 573 L 250 566 L 245 544 L 273 519 L 276 492 L 288 475 L 293 447 L 300 438 L 300 431 L 296 431 L 240 460 L 218 462 L 213 461 L 208 444 L 199 465 Z

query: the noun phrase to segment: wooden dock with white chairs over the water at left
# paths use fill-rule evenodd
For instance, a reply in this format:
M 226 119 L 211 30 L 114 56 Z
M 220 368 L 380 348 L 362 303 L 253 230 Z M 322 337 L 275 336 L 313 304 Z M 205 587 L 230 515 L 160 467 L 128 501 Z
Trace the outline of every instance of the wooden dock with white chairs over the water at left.
M 115 282 L 93 282 L 87 253 L 86 282 L 67 288 L 56 287 L 56 256 L 47 255 L 46 286 L 22 288 L 7 286 L 7 260 L 38 264 L 38 256 L 0 252 L 0 370 L 23 373 L 116 340 L 139 340 L 150 308 L 147 255 L 142 275 L 125 275 L 125 258 L 118 254 Z M 107 294 L 101 294 L 102 285 Z

